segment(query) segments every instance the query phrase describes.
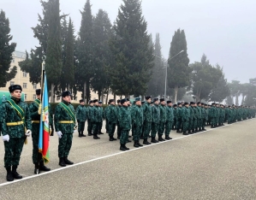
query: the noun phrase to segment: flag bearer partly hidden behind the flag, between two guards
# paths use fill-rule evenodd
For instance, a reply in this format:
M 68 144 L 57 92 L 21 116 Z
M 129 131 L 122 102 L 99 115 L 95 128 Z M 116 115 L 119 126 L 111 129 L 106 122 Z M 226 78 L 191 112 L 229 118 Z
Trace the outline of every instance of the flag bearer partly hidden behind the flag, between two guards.
M 30 104 L 30 115 L 32 119 L 32 140 L 33 140 L 33 164 L 34 174 L 37 174 L 37 170 L 40 171 L 50 171 L 51 168 L 45 167 L 44 159 L 42 158 L 42 154 L 39 153 L 39 129 L 40 129 L 40 118 L 41 118 L 41 89 L 36 90 L 37 99 L 34 100 L 33 103 Z

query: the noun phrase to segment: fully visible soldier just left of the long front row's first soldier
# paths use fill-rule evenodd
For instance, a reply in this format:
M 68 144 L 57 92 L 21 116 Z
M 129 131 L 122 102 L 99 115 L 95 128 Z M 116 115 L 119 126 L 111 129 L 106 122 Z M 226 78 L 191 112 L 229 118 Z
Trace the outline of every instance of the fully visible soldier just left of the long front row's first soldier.
M 110 141 L 115 141 L 116 138 L 114 138 L 114 132 L 116 129 L 116 123 L 117 123 L 117 108 L 115 105 L 115 100 L 114 99 L 110 99 L 110 106 L 107 109 L 106 112 L 106 118 L 108 119 L 108 123 L 109 123 L 109 136 L 110 136 Z

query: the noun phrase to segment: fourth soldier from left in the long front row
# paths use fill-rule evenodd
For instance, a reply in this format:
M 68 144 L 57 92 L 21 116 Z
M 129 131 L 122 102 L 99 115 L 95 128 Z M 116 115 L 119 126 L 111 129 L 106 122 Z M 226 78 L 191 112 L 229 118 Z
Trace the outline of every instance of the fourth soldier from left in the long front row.
M 159 100 L 158 98 L 153 99 L 153 106 L 152 106 L 152 143 L 158 143 L 156 140 L 156 135 L 159 128 L 160 123 L 160 109 L 159 109 Z

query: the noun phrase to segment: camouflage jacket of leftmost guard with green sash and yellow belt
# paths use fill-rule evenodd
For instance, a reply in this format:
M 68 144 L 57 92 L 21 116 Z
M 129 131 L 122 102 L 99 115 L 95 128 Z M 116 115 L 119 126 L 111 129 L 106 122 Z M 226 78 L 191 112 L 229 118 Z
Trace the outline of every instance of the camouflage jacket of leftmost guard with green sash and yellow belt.
M 2 134 L 9 135 L 9 138 L 23 138 L 25 135 L 25 127 L 32 129 L 30 112 L 28 105 L 21 100 L 17 101 L 15 98 L 11 98 L 15 103 L 21 107 L 24 111 L 24 123 L 16 126 L 7 126 L 9 122 L 22 121 L 20 115 L 17 114 L 16 110 L 10 105 L 9 102 L 4 102 L 2 105 Z

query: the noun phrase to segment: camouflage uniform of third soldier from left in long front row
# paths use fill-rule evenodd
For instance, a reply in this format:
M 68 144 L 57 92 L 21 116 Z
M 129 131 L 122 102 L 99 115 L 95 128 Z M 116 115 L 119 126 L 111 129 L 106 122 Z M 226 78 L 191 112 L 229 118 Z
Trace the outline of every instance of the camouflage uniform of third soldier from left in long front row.
M 150 103 L 146 102 L 143 105 L 143 114 L 144 114 L 144 125 L 143 125 L 143 138 L 146 139 L 149 137 L 152 126 L 152 106 Z

